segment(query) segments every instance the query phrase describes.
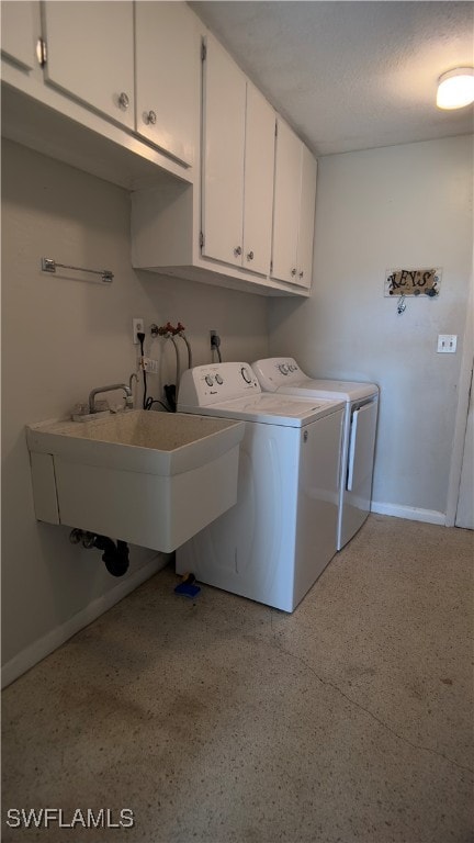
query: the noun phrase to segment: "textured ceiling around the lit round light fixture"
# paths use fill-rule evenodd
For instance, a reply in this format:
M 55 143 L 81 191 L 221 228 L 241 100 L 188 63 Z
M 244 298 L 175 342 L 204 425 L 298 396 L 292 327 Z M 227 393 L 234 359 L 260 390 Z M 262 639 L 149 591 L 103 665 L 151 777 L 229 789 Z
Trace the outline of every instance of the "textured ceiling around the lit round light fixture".
M 436 106 L 437 79 L 473 65 L 472 2 L 191 2 L 316 155 L 473 132 Z

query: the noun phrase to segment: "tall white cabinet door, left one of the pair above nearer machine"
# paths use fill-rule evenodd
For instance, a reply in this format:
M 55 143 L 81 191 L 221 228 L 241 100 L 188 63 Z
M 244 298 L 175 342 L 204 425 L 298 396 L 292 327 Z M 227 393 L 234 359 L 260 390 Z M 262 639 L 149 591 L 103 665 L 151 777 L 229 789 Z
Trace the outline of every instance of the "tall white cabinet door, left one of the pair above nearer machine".
M 202 254 L 240 266 L 246 79 L 211 36 L 203 70 Z

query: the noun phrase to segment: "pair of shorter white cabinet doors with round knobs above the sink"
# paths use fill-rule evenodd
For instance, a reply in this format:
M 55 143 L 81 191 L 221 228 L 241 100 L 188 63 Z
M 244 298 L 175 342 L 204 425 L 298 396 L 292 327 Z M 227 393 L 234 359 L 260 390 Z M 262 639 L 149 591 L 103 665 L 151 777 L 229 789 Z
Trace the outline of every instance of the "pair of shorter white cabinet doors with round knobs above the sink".
M 199 144 L 201 30 L 184 2 L 47 0 L 44 78 L 192 166 Z

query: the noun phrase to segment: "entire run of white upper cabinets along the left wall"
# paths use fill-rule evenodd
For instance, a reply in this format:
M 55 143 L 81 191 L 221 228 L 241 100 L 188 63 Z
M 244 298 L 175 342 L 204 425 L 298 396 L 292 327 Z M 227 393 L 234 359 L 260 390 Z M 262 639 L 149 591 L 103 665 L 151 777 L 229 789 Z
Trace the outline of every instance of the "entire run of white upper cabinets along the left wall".
M 188 3 L 2 0 L 1 20 L 3 134 L 132 191 L 134 267 L 308 294 L 316 161 Z

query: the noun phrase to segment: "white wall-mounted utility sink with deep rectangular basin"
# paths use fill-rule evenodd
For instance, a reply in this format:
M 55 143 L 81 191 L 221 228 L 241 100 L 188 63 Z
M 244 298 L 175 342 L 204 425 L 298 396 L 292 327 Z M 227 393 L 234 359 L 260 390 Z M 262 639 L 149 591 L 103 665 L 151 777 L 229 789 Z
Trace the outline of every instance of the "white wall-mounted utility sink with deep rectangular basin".
M 36 518 L 176 550 L 236 503 L 244 430 L 144 409 L 27 425 Z

